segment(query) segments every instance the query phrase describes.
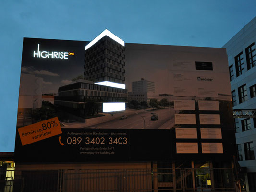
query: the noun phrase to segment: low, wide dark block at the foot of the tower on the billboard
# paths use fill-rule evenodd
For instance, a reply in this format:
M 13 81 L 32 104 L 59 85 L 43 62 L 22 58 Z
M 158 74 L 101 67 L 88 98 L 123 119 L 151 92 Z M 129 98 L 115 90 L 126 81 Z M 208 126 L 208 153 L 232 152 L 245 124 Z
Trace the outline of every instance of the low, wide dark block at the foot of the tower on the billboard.
M 103 102 L 125 102 L 127 90 L 98 85 L 94 82 L 79 80 L 76 83 L 62 86 L 58 89 L 58 96 L 54 98 L 54 104 L 69 108 L 69 112 L 77 116 L 89 115 L 86 110 L 88 101 Z M 102 111 L 102 105 L 99 105 Z

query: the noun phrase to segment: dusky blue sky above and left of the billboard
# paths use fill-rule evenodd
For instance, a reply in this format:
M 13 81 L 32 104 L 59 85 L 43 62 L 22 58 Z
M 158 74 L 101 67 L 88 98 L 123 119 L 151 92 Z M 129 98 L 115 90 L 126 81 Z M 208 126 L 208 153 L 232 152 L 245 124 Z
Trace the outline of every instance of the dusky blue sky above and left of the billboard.
M 14 151 L 23 37 L 222 47 L 256 16 L 256 0 L 1 0 L 0 152 Z

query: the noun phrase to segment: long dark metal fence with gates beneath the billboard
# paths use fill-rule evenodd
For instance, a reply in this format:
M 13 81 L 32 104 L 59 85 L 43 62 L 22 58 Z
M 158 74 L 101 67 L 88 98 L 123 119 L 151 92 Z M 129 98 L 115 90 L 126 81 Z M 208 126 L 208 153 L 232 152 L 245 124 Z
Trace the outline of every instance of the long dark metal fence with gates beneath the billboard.
M 235 192 L 232 168 L 15 170 L 0 183 L 0 192 Z

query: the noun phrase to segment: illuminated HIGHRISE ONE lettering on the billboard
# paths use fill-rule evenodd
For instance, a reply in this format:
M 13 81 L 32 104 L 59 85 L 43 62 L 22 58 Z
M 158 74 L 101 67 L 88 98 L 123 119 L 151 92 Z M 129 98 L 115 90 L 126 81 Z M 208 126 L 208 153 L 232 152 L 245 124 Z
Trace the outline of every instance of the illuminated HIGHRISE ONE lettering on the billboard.
M 40 51 L 40 44 L 38 43 L 37 53 L 34 51 L 33 57 L 37 58 L 52 58 L 52 59 L 68 59 L 69 55 L 74 55 L 71 52 L 58 52 L 58 51 Z

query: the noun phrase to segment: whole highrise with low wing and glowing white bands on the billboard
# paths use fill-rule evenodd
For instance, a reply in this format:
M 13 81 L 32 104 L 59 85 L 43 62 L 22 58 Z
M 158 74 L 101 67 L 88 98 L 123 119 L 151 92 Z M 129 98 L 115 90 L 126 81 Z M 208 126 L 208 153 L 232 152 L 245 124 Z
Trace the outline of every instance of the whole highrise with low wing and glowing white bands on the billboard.
M 85 80 L 59 87 L 54 104 L 69 108 L 78 116 L 90 115 L 86 107 L 90 101 L 101 104 L 97 112 L 104 111 L 104 102 L 124 104 L 127 97 L 124 66 L 124 42 L 104 30 L 85 46 Z

